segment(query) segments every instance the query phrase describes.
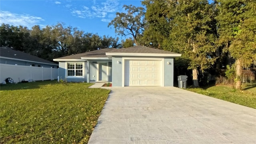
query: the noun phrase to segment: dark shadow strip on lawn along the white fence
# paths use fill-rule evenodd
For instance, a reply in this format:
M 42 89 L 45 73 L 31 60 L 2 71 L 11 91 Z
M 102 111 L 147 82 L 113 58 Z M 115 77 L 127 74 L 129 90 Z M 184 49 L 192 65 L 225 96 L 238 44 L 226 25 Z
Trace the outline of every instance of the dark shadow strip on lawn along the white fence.
M 45 80 L 28 83 L 17 83 L 17 84 L 1 84 L 0 90 L 27 90 L 40 88 L 40 86 L 47 84 L 57 84 L 56 80 Z

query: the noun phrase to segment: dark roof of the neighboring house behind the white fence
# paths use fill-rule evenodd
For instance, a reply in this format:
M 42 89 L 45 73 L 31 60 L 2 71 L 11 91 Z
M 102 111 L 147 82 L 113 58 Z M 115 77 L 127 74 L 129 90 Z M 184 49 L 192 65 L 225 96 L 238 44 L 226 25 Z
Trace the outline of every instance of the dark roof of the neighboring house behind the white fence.
M 38 58 L 37 56 L 32 56 L 31 54 L 28 54 L 19 50 L 15 50 L 13 48 L 8 48 L 8 47 L 0 48 L 0 58 L 20 60 L 20 61 L 26 61 L 26 62 L 35 62 L 35 63 L 41 63 L 41 64 L 51 64 L 51 65 L 58 66 L 58 64 L 54 62 L 50 62 L 48 60 Z

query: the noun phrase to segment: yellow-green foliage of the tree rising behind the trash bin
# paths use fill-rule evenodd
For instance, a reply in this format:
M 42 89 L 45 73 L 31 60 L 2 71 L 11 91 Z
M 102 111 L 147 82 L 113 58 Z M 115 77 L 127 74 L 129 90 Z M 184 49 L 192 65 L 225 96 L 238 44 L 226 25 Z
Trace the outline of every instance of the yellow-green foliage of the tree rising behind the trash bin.
M 216 61 L 212 31 L 212 7 L 207 0 L 184 0 L 178 4 L 170 2 L 172 30 L 169 41 L 184 58 L 190 59 L 189 69 L 200 68 L 202 72 Z

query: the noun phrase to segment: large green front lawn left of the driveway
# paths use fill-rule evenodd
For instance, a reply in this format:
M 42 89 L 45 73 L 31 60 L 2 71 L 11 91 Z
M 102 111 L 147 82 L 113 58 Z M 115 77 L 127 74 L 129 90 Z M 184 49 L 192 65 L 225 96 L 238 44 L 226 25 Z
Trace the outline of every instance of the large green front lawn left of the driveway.
M 0 143 L 88 143 L 110 92 L 91 85 L 1 85 Z

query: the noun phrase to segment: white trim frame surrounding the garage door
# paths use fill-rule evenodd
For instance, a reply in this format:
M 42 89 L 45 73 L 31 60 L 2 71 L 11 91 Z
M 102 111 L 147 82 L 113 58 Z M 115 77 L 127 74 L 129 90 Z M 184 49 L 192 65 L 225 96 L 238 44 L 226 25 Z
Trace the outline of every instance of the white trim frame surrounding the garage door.
M 124 64 L 125 60 L 159 60 L 161 62 L 161 86 L 164 86 L 164 58 L 134 58 L 134 57 L 123 57 L 122 58 L 122 87 L 124 87 Z

